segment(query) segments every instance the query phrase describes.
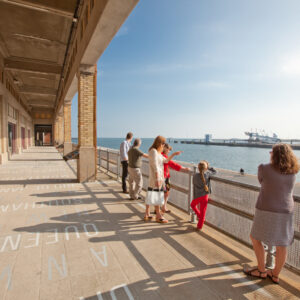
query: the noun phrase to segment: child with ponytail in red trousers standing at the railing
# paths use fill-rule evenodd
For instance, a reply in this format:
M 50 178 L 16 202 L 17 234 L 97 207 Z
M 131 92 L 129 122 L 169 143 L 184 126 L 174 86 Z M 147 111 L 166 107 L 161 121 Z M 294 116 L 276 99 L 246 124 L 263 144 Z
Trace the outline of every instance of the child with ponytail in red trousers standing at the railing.
M 210 176 L 217 173 L 214 168 L 210 168 L 208 162 L 200 161 L 198 164 L 199 173 L 193 177 L 194 184 L 194 200 L 191 203 L 191 208 L 198 217 L 197 229 L 201 230 L 205 220 L 205 213 L 208 203 L 208 195 L 211 193 Z M 200 210 L 198 208 L 200 204 Z

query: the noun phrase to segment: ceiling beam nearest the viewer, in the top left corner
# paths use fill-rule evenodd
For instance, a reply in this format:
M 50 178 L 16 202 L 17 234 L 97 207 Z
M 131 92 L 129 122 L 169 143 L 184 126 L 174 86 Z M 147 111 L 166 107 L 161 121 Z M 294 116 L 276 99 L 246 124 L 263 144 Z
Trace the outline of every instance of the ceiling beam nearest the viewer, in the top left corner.
M 74 2 L 76 0 L 63 0 L 63 1 L 51 1 L 51 0 L 0 0 L 0 2 L 6 2 L 12 5 L 21 6 L 33 10 L 50 13 L 65 18 L 73 19 L 74 16 Z

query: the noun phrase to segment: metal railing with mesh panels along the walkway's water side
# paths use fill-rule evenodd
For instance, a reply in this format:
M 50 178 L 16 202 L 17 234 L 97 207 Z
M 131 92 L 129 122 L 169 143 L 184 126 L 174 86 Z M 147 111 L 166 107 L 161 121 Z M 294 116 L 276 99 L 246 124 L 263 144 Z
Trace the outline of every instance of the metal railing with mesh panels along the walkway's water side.
M 122 170 L 120 168 L 121 163 L 118 150 L 99 147 L 98 159 L 100 167 L 107 172 L 115 174 L 119 179 Z M 180 164 L 189 167 L 191 171 L 176 172 L 170 170 L 171 190 L 169 202 L 190 214 L 191 222 L 195 222 L 196 217 L 190 209 L 190 204 L 193 200 L 192 177 L 196 173 L 197 168 L 196 165 L 186 162 L 180 162 Z M 143 159 L 141 170 L 143 174 L 143 189 L 146 190 L 149 178 L 149 163 L 147 159 Z M 224 170 L 221 173 L 224 174 Z M 249 182 L 245 180 L 245 177 L 243 177 L 244 180 L 241 182 L 228 179 L 228 176 L 222 176 L 222 174 L 218 175 L 217 173 L 211 179 L 212 194 L 208 201 L 206 223 L 251 246 L 249 235 L 260 187 L 258 184 L 253 183 L 253 176 Z M 295 235 L 293 244 L 288 248 L 287 266 L 300 272 L 300 196 L 294 195 L 294 200 Z

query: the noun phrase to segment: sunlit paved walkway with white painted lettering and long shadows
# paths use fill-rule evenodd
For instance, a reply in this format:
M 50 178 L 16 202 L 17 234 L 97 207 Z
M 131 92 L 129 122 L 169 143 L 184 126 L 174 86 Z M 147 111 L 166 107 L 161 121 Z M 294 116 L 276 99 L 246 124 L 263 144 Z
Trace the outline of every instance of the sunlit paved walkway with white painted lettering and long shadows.
M 0 299 L 299 299 L 300 277 L 250 280 L 252 251 L 172 208 L 142 202 L 105 174 L 77 184 L 75 161 L 35 147 L 0 166 Z

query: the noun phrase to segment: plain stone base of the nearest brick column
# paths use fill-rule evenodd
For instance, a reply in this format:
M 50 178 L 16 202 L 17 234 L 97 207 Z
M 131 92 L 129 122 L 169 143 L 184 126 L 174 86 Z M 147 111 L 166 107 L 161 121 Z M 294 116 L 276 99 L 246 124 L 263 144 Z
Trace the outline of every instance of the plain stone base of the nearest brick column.
M 80 147 L 77 161 L 78 182 L 96 180 L 95 147 Z

